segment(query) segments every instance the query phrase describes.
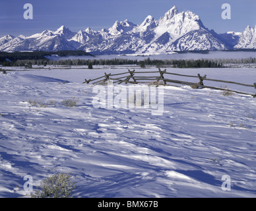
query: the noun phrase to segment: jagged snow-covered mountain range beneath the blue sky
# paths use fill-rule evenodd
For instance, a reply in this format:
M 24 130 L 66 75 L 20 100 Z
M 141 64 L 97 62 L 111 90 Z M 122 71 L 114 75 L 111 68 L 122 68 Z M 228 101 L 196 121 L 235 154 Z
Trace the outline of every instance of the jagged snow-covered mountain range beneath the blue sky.
M 32 36 L 0 38 L 0 51 L 58 51 L 80 49 L 92 54 L 170 53 L 187 50 L 256 49 L 256 26 L 245 31 L 217 34 L 198 15 L 174 6 L 159 20 L 147 16 L 137 25 L 116 21 L 108 30 L 90 28 L 71 32 L 61 26 Z

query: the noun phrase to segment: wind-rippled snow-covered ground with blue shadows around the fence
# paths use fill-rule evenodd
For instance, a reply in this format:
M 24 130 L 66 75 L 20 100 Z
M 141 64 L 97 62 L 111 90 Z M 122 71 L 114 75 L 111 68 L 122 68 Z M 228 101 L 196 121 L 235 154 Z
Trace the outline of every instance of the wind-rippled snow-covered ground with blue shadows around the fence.
M 219 70 L 205 71 L 214 78 Z M 222 69 L 238 82 L 245 71 Z M 25 175 L 36 189 L 61 172 L 76 175 L 74 197 L 256 197 L 256 98 L 166 86 L 163 115 L 96 109 L 82 82 L 104 72 L 0 73 L 1 197 L 26 195 Z M 74 97 L 77 106 L 63 105 Z

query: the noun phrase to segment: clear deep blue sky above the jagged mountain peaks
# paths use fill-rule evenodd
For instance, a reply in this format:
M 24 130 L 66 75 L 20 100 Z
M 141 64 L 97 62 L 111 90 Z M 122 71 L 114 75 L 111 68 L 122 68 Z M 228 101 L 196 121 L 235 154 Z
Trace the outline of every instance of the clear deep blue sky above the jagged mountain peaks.
M 23 34 L 29 36 L 43 30 L 67 26 L 78 32 L 110 28 L 115 20 L 128 19 L 141 24 L 148 15 L 156 20 L 176 5 L 179 12 L 192 11 L 203 24 L 217 33 L 242 32 L 247 25 L 256 25 L 255 0 L 0 0 L 0 36 Z M 25 20 L 25 3 L 33 5 L 33 20 Z M 231 20 L 223 20 L 221 6 L 231 5 Z

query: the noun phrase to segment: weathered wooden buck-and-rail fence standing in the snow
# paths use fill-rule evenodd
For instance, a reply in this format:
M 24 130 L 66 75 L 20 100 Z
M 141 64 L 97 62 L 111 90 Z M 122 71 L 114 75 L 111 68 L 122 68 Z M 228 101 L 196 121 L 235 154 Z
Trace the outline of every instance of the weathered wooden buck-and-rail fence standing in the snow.
M 148 74 L 148 73 L 158 73 L 160 75 L 158 76 L 135 76 L 136 74 Z M 176 75 L 176 76 L 183 76 L 183 77 L 189 77 L 189 78 L 198 78 L 199 82 L 195 83 L 195 82 L 186 82 L 186 81 L 182 81 L 182 80 L 172 80 L 172 79 L 168 79 L 168 78 L 164 78 L 164 74 L 165 75 Z M 132 80 L 131 80 L 132 79 Z M 236 84 L 236 85 L 240 85 L 240 86 L 248 86 L 248 87 L 253 87 L 256 89 L 256 82 L 251 85 L 251 84 L 242 84 L 240 82 L 233 82 L 233 81 L 228 81 L 228 80 L 218 80 L 218 79 L 210 79 L 207 78 L 207 75 L 201 76 L 200 74 L 197 74 L 197 76 L 193 76 L 193 75 L 181 75 L 181 74 L 177 74 L 177 73 L 168 73 L 166 71 L 166 69 L 164 71 L 161 71 L 161 69 L 158 69 L 158 71 L 137 71 L 135 72 L 135 70 L 130 71 L 128 70 L 128 72 L 125 73 L 117 73 L 117 74 L 106 74 L 104 76 L 98 77 L 98 78 L 94 78 L 94 79 L 89 79 L 86 80 L 83 83 L 89 84 L 90 82 L 92 82 L 92 84 L 104 84 L 105 82 L 107 82 L 108 80 L 112 80 L 113 83 L 117 83 L 117 84 L 121 84 L 121 83 L 129 83 L 129 84 L 142 84 L 142 83 L 149 83 L 150 81 L 154 81 L 155 84 L 159 84 L 159 81 L 163 82 L 163 85 L 170 85 L 169 83 L 174 83 L 174 84 L 183 84 L 183 85 L 189 85 L 192 88 L 211 88 L 211 89 L 215 89 L 215 90 L 223 90 L 223 91 L 227 91 L 227 92 L 235 92 L 238 94 L 246 94 L 246 95 L 250 95 L 253 96 L 253 98 L 256 98 L 256 94 L 248 94 L 245 92 L 240 92 L 240 91 L 236 91 L 236 90 L 229 90 L 227 88 L 222 88 L 222 87 L 215 87 L 215 86 L 207 86 L 204 84 L 204 80 L 209 80 L 209 81 L 214 81 L 214 82 L 223 82 L 223 83 L 228 83 L 228 84 Z M 154 83 L 153 83 L 154 84 Z

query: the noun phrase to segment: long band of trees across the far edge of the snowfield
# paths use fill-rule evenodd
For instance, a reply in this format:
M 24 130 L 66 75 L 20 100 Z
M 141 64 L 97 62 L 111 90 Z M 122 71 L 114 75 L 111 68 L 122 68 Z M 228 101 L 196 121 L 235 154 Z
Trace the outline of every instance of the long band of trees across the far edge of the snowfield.
M 5 60 L 1 65 L 13 67 L 27 67 L 32 65 L 46 66 L 46 65 L 60 65 L 60 66 L 93 66 L 93 65 L 139 65 L 140 67 L 156 66 L 172 66 L 174 68 L 216 68 L 223 67 L 224 64 L 247 64 L 256 63 L 256 58 L 247 59 L 144 59 L 138 61 L 137 59 L 66 59 L 58 61 L 50 61 L 49 59 L 23 59 L 16 61 Z

